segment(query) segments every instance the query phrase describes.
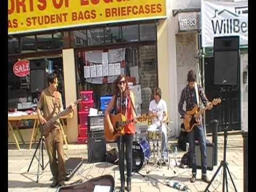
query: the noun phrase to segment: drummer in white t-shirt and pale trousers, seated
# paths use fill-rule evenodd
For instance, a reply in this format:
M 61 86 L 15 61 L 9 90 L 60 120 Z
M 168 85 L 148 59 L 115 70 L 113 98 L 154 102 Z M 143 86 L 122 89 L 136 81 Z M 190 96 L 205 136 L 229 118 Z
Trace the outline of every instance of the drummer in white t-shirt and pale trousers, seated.
M 149 104 L 148 116 L 152 124 L 148 127 L 148 131 L 162 130 L 162 158 L 167 162 L 167 130 L 164 122 L 167 120 L 166 102 L 161 99 L 162 92 L 159 87 L 153 90 L 154 100 Z

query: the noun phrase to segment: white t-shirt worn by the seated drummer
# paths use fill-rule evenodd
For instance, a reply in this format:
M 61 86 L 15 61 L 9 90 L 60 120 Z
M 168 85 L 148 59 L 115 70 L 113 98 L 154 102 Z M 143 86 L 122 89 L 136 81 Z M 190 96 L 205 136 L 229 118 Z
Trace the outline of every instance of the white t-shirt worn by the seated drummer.
M 166 102 L 163 99 L 160 99 L 158 103 L 153 100 L 149 104 L 149 110 L 158 114 L 158 119 L 154 117 L 153 123 L 159 124 L 164 118 L 164 111 L 167 111 Z

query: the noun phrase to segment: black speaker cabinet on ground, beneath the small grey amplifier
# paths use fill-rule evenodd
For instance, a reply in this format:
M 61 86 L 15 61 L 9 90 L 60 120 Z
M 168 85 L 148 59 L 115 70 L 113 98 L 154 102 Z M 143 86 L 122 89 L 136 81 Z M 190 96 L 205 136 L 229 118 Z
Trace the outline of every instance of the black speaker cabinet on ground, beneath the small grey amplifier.
M 105 161 L 106 150 L 106 140 L 104 137 L 90 137 L 87 145 L 88 162 Z

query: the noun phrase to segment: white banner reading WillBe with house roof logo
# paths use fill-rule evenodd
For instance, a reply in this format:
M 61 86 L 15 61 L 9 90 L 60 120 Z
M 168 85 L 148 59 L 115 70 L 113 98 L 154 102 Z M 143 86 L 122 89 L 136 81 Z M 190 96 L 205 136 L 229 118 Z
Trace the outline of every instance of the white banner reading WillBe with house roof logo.
M 240 36 L 248 45 L 248 1 L 201 0 L 202 46 L 213 47 L 214 37 Z

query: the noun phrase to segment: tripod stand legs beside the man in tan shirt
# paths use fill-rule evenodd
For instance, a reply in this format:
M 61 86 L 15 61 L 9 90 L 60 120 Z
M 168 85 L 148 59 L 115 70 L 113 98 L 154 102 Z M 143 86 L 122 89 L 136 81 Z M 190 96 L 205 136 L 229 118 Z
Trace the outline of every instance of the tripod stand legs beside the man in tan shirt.
M 36 158 L 37 161 L 38 161 L 36 182 L 38 182 L 39 167 L 41 167 L 42 171 L 44 171 L 45 167 L 46 167 L 46 166 L 48 165 L 48 163 L 49 163 L 49 162 L 48 162 L 48 163 L 44 166 L 43 143 L 44 143 L 44 137 L 43 137 L 43 135 L 41 134 L 41 137 L 40 137 L 40 139 L 39 139 L 39 141 L 38 141 L 38 143 L 37 143 L 37 146 L 36 146 L 35 153 L 34 153 L 32 159 L 31 159 L 31 162 L 30 162 L 29 167 L 28 167 L 28 172 L 29 172 L 30 166 L 31 166 L 31 164 L 33 163 L 34 158 Z M 37 157 L 36 157 L 36 151 L 37 151 L 37 149 L 38 149 L 39 146 L 40 146 L 40 148 L 39 148 L 39 157 L 37 158 Z M 42 161 L 42 163 L 41 163 L 41 161 Z

